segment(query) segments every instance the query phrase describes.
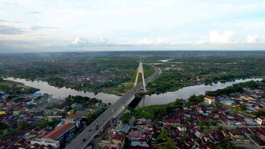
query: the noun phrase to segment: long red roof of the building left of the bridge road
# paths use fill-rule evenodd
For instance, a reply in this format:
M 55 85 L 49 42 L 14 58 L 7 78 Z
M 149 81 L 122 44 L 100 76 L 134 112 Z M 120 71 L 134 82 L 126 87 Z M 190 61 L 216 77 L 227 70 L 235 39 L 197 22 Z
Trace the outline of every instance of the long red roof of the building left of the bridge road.
M 52 132 L 48 133 L 44 138 L 49 138 L 55 140 L 59 135 L 67 131 L 73 124 L 66 123 L 57 128 L 55 128 Z

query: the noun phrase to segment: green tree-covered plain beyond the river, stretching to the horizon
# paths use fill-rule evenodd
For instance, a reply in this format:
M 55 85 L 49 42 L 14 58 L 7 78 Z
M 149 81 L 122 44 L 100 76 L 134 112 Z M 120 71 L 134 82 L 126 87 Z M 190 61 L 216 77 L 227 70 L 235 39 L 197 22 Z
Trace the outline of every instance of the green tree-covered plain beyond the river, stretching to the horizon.
M 160 62 L 162 59 L 172 59 Z M 0 76 L 42 79 L 58 87 L 124 93 L 132 87 L 139 62 L 161 63 L 151 93 L 198 83 L 265 76 L 263 51 L 102 51 L 0 54 Z M 179 68 L 165 71 L 166 67 Z M 145 76 L 154 72 L 144 65 Z M 127 83 L 127 84 L 124 84 Z

